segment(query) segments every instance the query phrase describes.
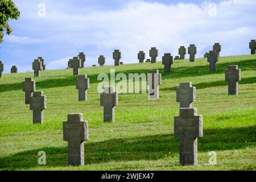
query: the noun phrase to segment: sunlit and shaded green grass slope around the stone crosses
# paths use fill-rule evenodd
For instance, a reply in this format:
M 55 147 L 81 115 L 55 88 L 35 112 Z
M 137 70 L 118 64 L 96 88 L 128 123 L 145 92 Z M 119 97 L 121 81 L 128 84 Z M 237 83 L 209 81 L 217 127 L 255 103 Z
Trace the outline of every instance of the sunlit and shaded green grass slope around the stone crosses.
M 159 58 L 160 59 L 160 58 Z M 241 69 L 239 95 L 228 96 L 225 69 Z M 103 122 L 97 76 L 109 73 L 148 73 L 159 69 L 159 100 L 148 94 L 119 94 L 113 123 Z M 47 96 L 44 123 L 32 124 L 32 110 L 24 104 L 22 82 L 34 73 L 5 74 L 0 78 L 0 169 L 2 170 L 255 170 L 256 169 L 256 55 L 220 57 L 217 72 L 209 73 L 206 59 L 174 61 L 172 73 L 162 62 L 80 69 L 90 78 L 88 101 L 78 101 L 72 69 L 44 71 L 34 78 L 36 90 Z M 198 139 L 199 165 L 179 165 L 179 139 L 174 137 L 174 116 L 179 115 L 176 87 L 191 81 L 196 86 L 198 114 L 203 115 L 204 137 Z M 69 167 L 63 121 L 70 113 L 89 121 L 85 166 Z M 45 166 L 38 152 L 46 152 Z M 209 151 L 217 152 L 210 166 Z

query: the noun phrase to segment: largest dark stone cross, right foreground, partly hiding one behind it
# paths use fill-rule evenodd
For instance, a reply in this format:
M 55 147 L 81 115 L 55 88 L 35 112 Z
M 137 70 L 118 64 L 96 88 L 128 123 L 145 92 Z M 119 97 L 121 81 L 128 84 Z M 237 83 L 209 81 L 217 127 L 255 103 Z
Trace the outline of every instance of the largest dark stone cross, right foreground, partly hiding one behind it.
M 180 164 L 197 165 L 197 137 L 203 137 L 203 117 L 196 108 L 181 108 L 174 117 L 174 136 L 179 137 Z

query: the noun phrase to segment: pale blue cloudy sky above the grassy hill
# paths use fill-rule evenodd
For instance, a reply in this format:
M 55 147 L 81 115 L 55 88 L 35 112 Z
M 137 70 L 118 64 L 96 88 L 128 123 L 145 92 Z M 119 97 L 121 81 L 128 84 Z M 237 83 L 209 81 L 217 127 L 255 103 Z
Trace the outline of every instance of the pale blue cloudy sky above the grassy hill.
M 105 55 L 113 65 L 112 52 L 120 49 L 124 63 L 138 63 L 138 51 L 159 49 L 177 55 L 179 46 L 196 44 L 203 57 L 215 42 L 221 56 L 250 53 L 256 39 L 255 0 L 167 1 L 167 0 L 14 0 L 21 15 L 12 20 L 13 34 L 0 44 L 5 73 L 11 65 L 19 72 L 32 71 L 32 61 L 43 56 L 47 69 L 63 69 L 68 59 L 86 54 L 86 67 Z M 46 16 L 39 16 L 46 6 Z M 188 57 L 188 56 L 187 56 Z

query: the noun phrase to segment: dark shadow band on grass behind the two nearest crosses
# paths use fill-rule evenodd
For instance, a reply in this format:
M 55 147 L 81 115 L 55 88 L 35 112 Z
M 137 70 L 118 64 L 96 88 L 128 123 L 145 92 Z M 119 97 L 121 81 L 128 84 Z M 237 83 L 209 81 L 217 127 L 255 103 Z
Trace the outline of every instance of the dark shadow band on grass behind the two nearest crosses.
M 255 146 L 256 126 L 209 129 L 199 138 L 199 152 L 235 150 Z M 46 147 L 0 158 L 0 169 L 29 169 L 38 164 L 38 152 L 46 152 L 46 167 L 67 167 L 67 147 Z M 85 164 L 157 160 L 179 156 L 179 139 L 170 135 L 85 142 Z M 178 165 L 178 164 L 177 164 Z

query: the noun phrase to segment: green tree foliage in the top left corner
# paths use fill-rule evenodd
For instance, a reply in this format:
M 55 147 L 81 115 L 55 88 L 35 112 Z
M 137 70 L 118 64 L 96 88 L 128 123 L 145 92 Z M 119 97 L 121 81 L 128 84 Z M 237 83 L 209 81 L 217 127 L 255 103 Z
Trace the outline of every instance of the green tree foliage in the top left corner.
M 3 42 L 3 32 L 11 34 L 13 31 L 8 22 L 10 19 L 18 19 L 20 12 L 11 0 L 0 0 L 0 43 Z

